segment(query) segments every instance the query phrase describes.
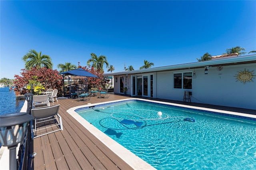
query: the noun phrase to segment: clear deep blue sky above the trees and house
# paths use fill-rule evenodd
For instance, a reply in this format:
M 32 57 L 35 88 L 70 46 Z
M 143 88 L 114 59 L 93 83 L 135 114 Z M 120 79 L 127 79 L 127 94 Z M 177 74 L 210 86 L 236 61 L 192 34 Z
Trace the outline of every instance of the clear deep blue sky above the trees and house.
M 90 53 L 115 70 L 197 62 L 241 46 L 256 50 L 256 1 L 0 1 L 0 78 L 13 79 L 30 50 L 86 66 Z M 104 65 L 105 68 L 105 65 Z M 105 73 L 110 73 L 105 68 Z

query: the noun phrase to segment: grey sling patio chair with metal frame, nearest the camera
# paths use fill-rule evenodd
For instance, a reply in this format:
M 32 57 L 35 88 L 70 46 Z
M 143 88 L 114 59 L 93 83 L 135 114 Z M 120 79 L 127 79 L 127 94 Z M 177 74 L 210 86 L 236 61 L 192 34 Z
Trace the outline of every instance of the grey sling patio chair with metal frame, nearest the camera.
M 59 108 L 60 105 L 31 109 L 31 115 L 35 117 L 32 126 L 33 139 L 63 130 L 62 118 L 58 114 Z

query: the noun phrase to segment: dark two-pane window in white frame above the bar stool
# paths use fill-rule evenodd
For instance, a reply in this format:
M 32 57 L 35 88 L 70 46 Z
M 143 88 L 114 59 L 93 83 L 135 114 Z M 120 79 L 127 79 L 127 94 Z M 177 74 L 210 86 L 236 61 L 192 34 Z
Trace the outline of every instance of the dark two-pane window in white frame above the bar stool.
M 192 89 L 192 72 L 174 73 L 174 89 Z

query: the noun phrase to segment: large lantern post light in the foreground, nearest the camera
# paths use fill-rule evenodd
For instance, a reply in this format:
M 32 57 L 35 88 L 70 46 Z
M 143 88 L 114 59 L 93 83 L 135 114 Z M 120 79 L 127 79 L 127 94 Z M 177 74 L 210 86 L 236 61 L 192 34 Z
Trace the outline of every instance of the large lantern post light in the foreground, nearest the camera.
M 0 143 L 10 150 L 10 170 L 17 170 L 16 147 L 24 140 L 28 122 L 33 119 L 23 112 L 0 115 Z

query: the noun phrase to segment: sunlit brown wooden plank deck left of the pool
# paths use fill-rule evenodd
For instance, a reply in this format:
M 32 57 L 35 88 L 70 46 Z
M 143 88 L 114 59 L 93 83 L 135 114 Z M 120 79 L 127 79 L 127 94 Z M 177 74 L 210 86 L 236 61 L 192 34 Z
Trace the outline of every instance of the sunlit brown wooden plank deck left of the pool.
M 28 166 L 34 170 L 133 169 L 66 112 L 72 107 L 87 103 L 126 98 L 128 97 L 110 95 L 108 99 L 91 97 L 90 101 L 59 99 L 58 103 L 54 102 L 53 105 L 60 104 L 63 130 L 34 138 L 33 152 L 36 152 L 36 156 Z

